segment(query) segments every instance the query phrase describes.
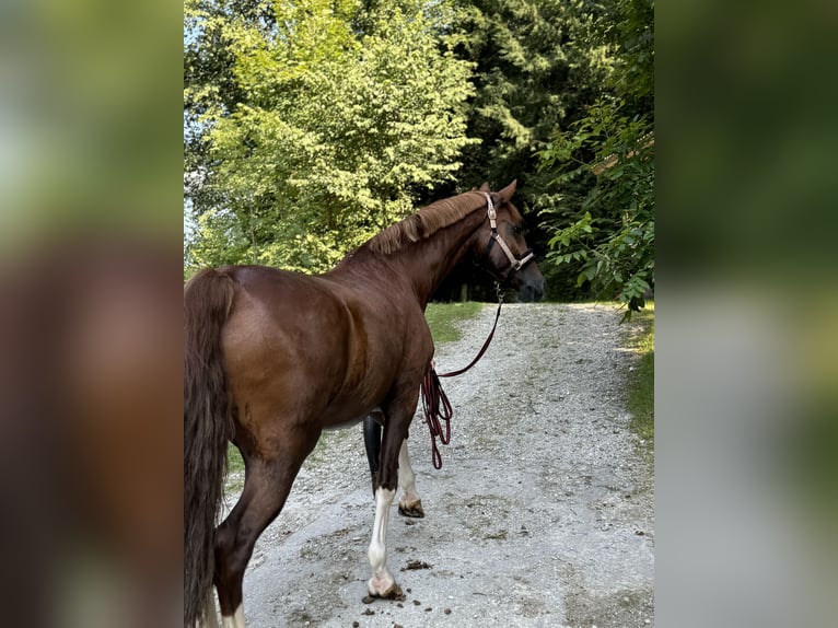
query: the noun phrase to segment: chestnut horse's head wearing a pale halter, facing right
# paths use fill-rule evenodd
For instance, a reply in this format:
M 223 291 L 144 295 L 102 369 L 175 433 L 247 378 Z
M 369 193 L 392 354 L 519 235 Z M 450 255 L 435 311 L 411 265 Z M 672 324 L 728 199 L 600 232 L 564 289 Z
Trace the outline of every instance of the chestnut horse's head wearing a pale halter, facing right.
M 478 190 L 487 197 L 487 218 L 474 253 L 497 281 L 517 289 L 521 301 L 538 301 L 544 296 L 544 277 L 524 240 L 521 212 L 510 200 L 516 184 L 490 191 L 485 183 Z

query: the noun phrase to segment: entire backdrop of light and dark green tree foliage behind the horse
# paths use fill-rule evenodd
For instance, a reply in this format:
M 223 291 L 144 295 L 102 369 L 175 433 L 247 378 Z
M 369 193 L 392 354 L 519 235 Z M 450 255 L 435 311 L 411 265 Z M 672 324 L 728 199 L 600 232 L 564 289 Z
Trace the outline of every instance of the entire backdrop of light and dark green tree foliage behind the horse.
M 653 0 L 185 0 L 187 266 L 321 271 L 517 178 L 554 298 L 654 286 Z

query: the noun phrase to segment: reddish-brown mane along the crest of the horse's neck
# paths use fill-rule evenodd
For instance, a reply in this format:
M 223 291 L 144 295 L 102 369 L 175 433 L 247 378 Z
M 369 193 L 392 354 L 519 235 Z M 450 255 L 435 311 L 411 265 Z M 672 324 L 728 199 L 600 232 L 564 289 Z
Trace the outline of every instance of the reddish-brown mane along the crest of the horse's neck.
M 384 255 L 394 253 L 409 242 L 424 240 L 440 229 L 462 220 L 485 203 L 486 197 L 479 191 L 467 191 L 438 200 L 405 220 L 389 225 L 366 244 L 375 253 Z

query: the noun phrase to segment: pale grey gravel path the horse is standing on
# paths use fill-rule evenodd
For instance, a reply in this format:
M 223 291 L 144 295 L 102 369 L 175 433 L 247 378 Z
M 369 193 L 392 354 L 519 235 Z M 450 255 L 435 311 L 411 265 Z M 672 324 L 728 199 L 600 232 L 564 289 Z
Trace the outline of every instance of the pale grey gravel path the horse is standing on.
M 438 370 L 470 360 L 493 315 L 466 322 Z M 653 626 L 652 463 L 628 430 L 619 316 L 505 305 L 482 361 L 443 380 L 455 415 L 441 470 L 423 422 L 411 428 L 426 519 L 391 515 L 401 603 L 361 601 L 374 513 L 361 429 L 325 433 L 256 545 L 248 628 Z

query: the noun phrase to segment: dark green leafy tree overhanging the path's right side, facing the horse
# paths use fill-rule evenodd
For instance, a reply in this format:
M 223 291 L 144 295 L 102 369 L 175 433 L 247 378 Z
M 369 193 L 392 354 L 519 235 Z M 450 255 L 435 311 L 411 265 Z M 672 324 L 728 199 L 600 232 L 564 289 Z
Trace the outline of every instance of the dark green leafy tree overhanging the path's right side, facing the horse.
M 653 0 L 613 0 L 592 36 L 614 59 L 586 115 L 538 152 L 561 191 L 542 214 L 549 259 L 627 316 L 654 287 Z

